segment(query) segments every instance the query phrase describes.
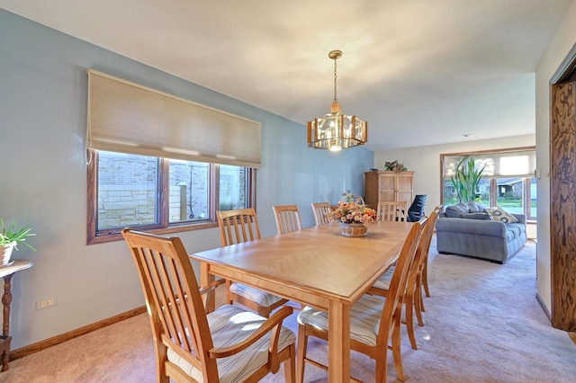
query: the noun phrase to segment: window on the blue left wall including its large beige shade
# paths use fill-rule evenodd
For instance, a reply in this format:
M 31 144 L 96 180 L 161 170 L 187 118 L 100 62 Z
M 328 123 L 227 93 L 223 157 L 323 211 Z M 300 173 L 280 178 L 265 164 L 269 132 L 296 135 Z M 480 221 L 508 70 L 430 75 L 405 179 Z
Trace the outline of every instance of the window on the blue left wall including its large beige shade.
M 262 124 L 88 70 L 88 244 L 175 233 L 254 207 Z

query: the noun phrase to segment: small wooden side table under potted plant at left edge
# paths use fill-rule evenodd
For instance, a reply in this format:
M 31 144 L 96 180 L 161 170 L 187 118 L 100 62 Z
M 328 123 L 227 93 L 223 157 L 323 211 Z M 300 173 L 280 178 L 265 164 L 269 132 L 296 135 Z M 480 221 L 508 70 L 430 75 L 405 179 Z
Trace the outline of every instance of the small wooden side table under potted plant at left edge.
M 8 359 L 10 357 L 10 304 L 12 303 L 12 277 L 14 273 L 29 269 L 34 263 L 28 260 L 15 259 L 14 263 L 7 266 L 0 266 L 0 278 L 4 279 L 4 294 L 2 304 L 4 305 L 4 325 L 2 325 L 2 335 L 0 335 L 0 360 L 2 361 L 2 372 L 8 370 Z

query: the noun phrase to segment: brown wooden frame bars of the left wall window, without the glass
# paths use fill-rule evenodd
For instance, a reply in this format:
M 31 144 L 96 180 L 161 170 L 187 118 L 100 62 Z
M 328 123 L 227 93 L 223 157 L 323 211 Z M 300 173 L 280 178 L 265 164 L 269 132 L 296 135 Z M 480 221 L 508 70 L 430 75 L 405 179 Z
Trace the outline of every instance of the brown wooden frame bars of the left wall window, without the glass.
M 122 240 L 121 229 L 111 228 L 97 230 L 98 218 L 98 159 L 99 151 L 95 149 L 87 149 L 88 158 L 90 161 L 86 165 L 87 175 L 87 212 L 86 212 L 86 244 L 103 244 L 107 242 Z M 169 200 L 164 196 L 169 195 L 169 181 L 170 181 L 170 159 L 166 157 L 156 157 L 159 161 L 157 177 L 157 217 L 158 223 L 153 225 L 138 226 L 139 231 L 154 233 L 159 235 L 179 233 L 191 230 L 201 230 L 204 228 L 218 227 L 218 220 L 216 218 L 216 210 L 220 206 L 220 165 L 215 163 L 210 164 L 208 175 L 208 183 L 210 184 L 210 193 L 208 196 L 210 206 L 210 218 L 203 219 L 202 221 L 186 221 L 184 223 L 170 223 L 169 222 Z M 256 169 L 246 167 L 247 169 L 247 204 L 249 208 L 256 209 Z

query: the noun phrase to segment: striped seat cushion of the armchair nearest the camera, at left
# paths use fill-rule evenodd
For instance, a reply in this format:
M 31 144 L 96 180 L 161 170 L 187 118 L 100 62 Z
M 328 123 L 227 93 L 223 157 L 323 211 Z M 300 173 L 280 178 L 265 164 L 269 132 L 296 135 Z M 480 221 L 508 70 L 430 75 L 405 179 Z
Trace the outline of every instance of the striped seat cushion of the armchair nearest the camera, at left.
M 265 321 L 266 318 L 263 316 L 230 305 L 218 307 L 208 314 L 208 324 L 214 347 L 229 346 L 243 341 Z M 268 361 L 270 336 L 271 334 L 268 333 L 246 350 L 227 358 L 220 358 L 217 361 L 220 382 L 242 381 L 259 367 L 265 365 Z M 285 347 L 295 342 L 296 335 L 283 326 L 278 340 L 278 351 L 284 350 Z M 175 363 L 193 379 L 199 382 L 203 381 L 202 371 L 194 368 L 192 364 L 185 361 L 170 348 L 168 348 L 167 357 L 168 361 Z

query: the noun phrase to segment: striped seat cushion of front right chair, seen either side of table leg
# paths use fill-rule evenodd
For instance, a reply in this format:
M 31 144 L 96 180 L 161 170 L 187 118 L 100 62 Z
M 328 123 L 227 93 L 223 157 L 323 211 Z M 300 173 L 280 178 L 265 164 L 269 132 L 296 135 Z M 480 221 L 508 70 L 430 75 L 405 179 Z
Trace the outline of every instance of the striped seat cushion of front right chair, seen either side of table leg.
M 369 346 L 376 345 L 384 299 L 365 295 L 350 309 L 350 338 Z M 298 315 L 298 323 L 328 331 L 328 314 L 310 306 Z

